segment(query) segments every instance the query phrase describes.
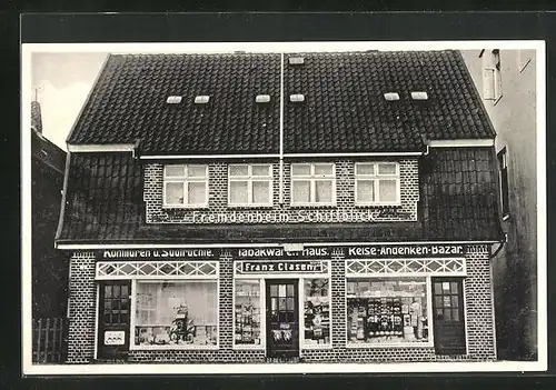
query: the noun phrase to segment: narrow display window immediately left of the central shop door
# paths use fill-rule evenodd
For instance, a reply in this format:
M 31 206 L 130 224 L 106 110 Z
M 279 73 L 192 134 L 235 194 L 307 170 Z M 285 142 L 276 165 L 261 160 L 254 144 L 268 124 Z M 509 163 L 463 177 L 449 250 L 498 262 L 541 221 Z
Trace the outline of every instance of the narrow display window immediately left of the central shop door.
M 262 340 L 260 280 L 235 281 L 234 344 L 258 347 Z

